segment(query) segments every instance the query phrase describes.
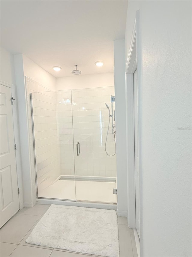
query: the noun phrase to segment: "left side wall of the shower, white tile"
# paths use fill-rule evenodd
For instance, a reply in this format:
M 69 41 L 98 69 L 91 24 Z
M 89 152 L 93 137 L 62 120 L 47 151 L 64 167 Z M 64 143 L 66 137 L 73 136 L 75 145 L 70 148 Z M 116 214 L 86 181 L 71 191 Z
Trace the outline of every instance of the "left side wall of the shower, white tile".
M 56 120 L 56 93 L 53 90 L 55 90 L 54 87 L 45 87 L 26 77 L 31 169 L 35 173 L 30 93 L 32 93 L 33 99 L 38 193 L 51 185 L 61 174 Z

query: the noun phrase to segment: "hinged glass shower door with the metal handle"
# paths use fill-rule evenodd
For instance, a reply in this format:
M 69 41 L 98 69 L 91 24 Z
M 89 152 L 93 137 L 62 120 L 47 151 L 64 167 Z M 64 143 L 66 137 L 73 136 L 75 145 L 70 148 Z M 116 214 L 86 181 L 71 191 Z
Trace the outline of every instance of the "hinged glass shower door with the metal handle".
M 116 147 L 112 119 L 107 137 L 110 117 L 106 107 L 111 110 L 114 87 L 76 89 L 71 95 L 76 200 L 116 203 Z M 113 125 L 115 130 L 115 121 Z M 107 155 L 105 143 L 107 153 L 113 156 Z

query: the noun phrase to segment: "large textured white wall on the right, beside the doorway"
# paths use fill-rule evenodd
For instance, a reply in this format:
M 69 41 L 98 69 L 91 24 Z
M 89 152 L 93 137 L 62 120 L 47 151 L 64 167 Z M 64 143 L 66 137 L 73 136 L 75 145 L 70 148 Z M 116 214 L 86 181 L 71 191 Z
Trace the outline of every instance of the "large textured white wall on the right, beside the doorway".
M 142 55 L 141 256 L 191 256 L 191 2 L 129 1 L 126 57 L 136 10 Z

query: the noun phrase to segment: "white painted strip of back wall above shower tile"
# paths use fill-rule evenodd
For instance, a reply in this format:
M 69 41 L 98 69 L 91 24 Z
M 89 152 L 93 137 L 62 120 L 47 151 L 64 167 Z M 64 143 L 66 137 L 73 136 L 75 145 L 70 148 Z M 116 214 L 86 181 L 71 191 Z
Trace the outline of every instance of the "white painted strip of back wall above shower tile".
M 113 73 L 73 75 L 70 77 L 57 78 L 56 82 L 57 90 L 83 89 L 105 86 L 114 86 Z

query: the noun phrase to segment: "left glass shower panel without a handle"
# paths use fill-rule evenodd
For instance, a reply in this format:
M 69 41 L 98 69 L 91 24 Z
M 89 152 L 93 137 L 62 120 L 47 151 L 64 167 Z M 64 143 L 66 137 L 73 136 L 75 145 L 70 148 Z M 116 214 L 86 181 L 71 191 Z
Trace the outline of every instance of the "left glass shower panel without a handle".
M 71 90 L 31 93 L 38 198 L 76 200 Z

